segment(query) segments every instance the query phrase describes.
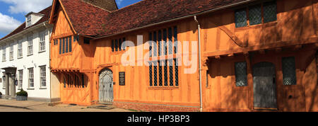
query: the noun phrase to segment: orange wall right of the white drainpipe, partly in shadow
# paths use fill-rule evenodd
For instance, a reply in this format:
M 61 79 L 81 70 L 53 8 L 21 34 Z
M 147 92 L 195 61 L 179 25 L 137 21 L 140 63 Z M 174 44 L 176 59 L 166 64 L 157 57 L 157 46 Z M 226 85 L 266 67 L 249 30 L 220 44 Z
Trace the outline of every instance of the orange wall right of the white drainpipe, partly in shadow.
M 203 62 L 210 57 L 202 74 L 204 110 L 254 110 L 252 69 L 248 71 L 249 86 L 235 86 L 234 64 L 248 62 L 243 53 L 249 52 L 250 67 L 257 62 L 266 61 L 276 65 L 278 110 L 317 111 L 317 88 L 314 88 L 317 87 L 317 66 L 316 60 L 312 58 L 317 48 L 307 45 L 294 49 L 292 46 L 310 43 L 314 45 L 318 42 L 317 5 L 317 1 L 312 0 L 278 0 L 277 21 L 243 28 L 235 28 L 234 12 L 237 8 L 200 16 Z M 288 46 L 292 49 L 277 48 Z M 298 84 L 283 86 L 281 57 L 290 56 L 296 58 Z M 208 78 L 207 70 L 210 72 Z M 290 95 L 293 98 L 288 99 Z

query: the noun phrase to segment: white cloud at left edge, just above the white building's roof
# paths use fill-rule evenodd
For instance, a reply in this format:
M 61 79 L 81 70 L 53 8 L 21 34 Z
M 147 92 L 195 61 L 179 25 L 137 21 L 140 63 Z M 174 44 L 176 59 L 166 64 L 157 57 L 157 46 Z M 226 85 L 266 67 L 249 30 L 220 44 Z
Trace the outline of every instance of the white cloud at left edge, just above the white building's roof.
M 0 13 L 0 33 L 11 33 L 11 31 L 18 28 L 20 24 L 20 21 L 17 21 L 13 17 Z

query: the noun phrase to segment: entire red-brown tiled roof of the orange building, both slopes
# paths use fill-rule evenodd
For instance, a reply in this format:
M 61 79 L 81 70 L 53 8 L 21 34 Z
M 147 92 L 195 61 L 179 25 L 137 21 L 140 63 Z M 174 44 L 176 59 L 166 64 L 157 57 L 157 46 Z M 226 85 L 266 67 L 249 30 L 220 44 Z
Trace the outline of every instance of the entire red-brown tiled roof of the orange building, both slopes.
M 143 0 L 117 11 L 82 0 L 60 0 L 76 33 L 95 38 L 249 0 Z

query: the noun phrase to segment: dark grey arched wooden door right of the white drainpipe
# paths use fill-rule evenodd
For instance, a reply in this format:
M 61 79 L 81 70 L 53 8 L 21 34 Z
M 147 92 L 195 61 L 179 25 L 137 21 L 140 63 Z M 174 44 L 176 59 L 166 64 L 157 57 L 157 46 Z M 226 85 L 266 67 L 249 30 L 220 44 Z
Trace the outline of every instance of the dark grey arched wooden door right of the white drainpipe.
M 275 65 L 260 62 L 253 66 L 254 108 L 277 108 Z

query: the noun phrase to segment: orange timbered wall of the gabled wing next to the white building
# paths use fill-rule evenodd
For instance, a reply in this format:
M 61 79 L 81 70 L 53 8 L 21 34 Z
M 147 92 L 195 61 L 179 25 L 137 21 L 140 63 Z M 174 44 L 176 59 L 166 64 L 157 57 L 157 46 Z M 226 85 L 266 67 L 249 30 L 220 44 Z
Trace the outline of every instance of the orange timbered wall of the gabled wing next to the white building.
M 51 70 L 59 76 L 61 101 L 64 103 L 76 103 L 79 105 L 91 104 L 92 91 L 92 74 L 91 62 L 93 49 L 91 45 L 83 43 L 83 37 L 79 37 L 78 41 L 73 41 L 74 31 L 71 23 L 67 20 L 65 11 L 59 6 L 57 11 L 57 19 L 54 23 L 54 29 L 51 37 Z M 72 40 L 72 52 L 59 54 L 59 42 L 54 45 L 54 40 L 59 38 L 70 37 Z M 64 76 L 74 73 L 84 74 L 85 88 L 64 88 Z M 66 81 L 66 84 L 69 83 Z

